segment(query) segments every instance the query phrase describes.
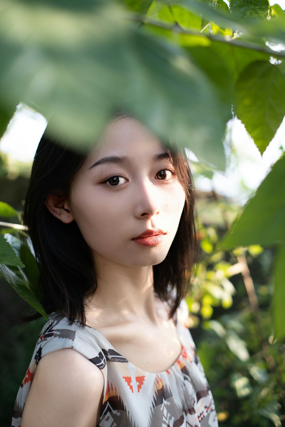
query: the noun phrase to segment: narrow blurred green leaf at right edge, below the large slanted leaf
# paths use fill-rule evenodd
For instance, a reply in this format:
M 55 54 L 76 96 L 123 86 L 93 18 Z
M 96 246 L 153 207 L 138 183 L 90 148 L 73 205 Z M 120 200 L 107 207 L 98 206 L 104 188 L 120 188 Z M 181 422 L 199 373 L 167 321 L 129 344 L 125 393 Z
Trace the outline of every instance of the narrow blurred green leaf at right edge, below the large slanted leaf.
M 273 295 L 274 337 L 285 337 L 285 243 L 279 245 L 274 263 L 275 291 Z

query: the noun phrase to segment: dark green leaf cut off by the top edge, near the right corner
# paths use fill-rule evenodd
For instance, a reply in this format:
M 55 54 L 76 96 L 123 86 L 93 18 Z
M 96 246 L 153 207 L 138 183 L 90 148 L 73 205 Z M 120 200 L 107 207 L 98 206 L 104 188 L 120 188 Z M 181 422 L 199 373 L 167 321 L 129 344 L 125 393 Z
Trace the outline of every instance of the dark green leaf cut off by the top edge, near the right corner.
M 249 20 L 266 18 L 269 7 L 268 0 L 229 0 L 232 14 Z

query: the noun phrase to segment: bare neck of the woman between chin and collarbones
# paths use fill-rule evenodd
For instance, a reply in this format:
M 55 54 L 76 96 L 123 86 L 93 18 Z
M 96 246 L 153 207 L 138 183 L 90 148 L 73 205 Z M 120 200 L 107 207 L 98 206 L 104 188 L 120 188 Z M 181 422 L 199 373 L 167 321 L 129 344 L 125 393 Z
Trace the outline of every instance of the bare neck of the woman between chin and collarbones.
M 131 268 L 97 257 L 97 290 L 85 300 L 86 322 L 103 327 L 133 322 L 159 324 L 153 267 Z

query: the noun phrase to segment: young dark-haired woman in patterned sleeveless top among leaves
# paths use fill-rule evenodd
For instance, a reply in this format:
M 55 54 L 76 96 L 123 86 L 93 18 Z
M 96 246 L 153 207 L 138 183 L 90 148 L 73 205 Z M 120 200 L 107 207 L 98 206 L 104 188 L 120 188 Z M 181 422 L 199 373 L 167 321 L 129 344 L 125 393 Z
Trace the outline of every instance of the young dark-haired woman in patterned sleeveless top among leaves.
M 12 426 L 216 427 L 185 325 L 198 259 L 185 151 L 122 113 L 86 155 L 46 131 L 24 223 L 50 317 Z

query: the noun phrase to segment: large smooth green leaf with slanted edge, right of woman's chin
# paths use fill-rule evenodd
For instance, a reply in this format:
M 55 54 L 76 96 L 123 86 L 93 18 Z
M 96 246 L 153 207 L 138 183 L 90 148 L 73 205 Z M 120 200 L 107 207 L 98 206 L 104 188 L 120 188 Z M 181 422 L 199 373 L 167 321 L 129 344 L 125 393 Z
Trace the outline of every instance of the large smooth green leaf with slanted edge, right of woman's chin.
M 273 246 L 284 241 L 285 155 L 282 155 L 217 246 L 220 250 L 250 245 Z

